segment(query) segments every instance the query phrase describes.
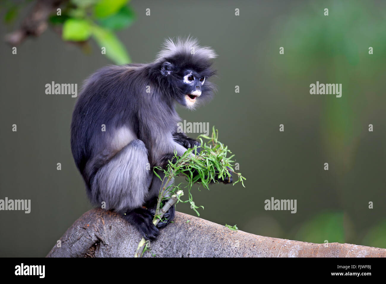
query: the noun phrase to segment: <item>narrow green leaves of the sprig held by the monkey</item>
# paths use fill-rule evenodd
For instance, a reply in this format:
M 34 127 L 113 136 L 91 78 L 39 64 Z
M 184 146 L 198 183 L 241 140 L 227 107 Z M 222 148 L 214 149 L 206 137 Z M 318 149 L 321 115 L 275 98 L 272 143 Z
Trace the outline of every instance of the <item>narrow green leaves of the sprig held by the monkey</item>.
M 204 143 L 202 138 L 207 139 L 208 141 Z M 171 180 L 173 180 L 176 176 L 183 176 L 186 181 L 185 184 L 180 183 L 175 185 L 173 182 L 168 187 L 161 188 L 158 197 L 159 206 L 162 204 L 162 200 L 168 199 L 165 197 L 166 193 L 174 194 L 177 190 L 181 190 L 181 187 L 188 188 L 188 200 L 181 201 L 181 199 L 178 199 L 178 201 L 182 203 L 189 202 L 190 207 L 198 216 L 200 216 L 197 209 L 204 207 L 196 206 L 195 202 L 193 202 L 193 196 L 191 194 L 193 184 L 198 183 L 209 190 L 210 182 L 218 183 L 217 175 L 218 180 L 231 176 L 227 167 L 230 168 L 231 172 L 235 173 L 233 175 L 233 185 L 241 182 L 244 186 L 245 177 L 243 177 L 241 173 L 234 172 L 232 166 L 232 162 L 234 161 L 231 160 L 234 155 L 227 157 L 228 153 L 231 152 L 228 150 L 227 146 L 224 146 L 220 141 L 218 141 L 218 131 L 213 127 L 212 137 L 200 135 L 199 139 L 201 146 L 195 146 L 194 148 L 188 149 L 182 156 L 177 156 L 177 153 L 174 153 L 174 160 L 176 160 L 176 162 L 173 163 L 169 160 L 169 165 L 166 170 L 161 167 L 154 168 L 154 173 L 159 179 L 161 179 L 161 177 L 157 174 L 156 169 L 165 174 L 164 178 L 161 179 L 165 185 L 168 185 L 169 182 L 171 182 Z M 200 148 L 199 154 L 197 154 L 197 148 Z M 194 153 L 196 153 L 196 155 Z M 197 173 L 196 177 L 193 176 L 193 172 Z M 157 207 L 154 219 L 156 219 L 159 215 L 159 206 Z

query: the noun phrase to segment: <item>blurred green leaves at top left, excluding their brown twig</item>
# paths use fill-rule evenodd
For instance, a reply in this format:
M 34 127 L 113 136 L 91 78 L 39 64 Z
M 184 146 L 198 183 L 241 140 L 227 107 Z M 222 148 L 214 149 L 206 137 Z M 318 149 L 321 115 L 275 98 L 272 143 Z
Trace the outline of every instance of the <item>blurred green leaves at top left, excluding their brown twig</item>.
M 115 35 L 115 31 L 129 27 L 135 20 L 134 11 L 127 4 L 129 0 L 71 0 L 64 3 L 61 15 L 54 11 L 48 23 L 56 29 L 62 27 L 64 41 L 85 42 L 91 37 L 105 48 L 106 56 L 115 64 L 130 63 L 125 46 Z M 28 1 L 22 1 L 22 4 Z M 6 9 L 4 21 L 10 23 L 20 11 L 20 3 L 4 1 Z M 85 49 L 87 50 L 87 49 Z

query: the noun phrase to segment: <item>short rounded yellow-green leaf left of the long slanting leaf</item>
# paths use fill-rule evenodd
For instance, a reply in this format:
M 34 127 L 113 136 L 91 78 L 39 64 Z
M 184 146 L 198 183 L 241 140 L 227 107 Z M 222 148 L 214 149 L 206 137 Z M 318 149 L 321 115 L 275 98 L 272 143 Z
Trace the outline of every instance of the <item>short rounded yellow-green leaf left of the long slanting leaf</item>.
M 85 41 L 91 35 L 91 25 L 82 19 L 68 19 L 64 22 L 62 38 L 65 41 Z

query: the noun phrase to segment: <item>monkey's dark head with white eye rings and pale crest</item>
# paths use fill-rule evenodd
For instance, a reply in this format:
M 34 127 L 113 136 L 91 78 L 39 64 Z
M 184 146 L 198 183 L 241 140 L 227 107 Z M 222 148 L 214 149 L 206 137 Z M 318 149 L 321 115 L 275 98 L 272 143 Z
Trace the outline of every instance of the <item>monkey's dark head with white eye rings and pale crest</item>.
M 215 85 L 209 82 L 209 77 L 216 73 L 212 69 L 212 59 L 217 56 L 213 49 L 202 47 L 189 37 L 175 42 L 169 39 L 164 47 L 157 61 L 174 99 L 190 109 L 210 99 L 215 90 Z

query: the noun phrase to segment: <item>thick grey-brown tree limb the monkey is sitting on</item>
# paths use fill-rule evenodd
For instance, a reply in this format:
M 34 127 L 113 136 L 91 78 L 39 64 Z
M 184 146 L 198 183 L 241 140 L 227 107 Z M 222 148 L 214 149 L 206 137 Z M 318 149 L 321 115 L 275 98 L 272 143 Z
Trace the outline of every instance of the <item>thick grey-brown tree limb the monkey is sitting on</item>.
M 186 221 L 190 221 L 186 223 Z M 118 214 L 91 209 L 61 237 L 47 257 L 133 257 L 142 236 Z M 347 243 L 306 243 L 232 231 L 176 212 L 143 257 L 386 257 L 386 249 Z

